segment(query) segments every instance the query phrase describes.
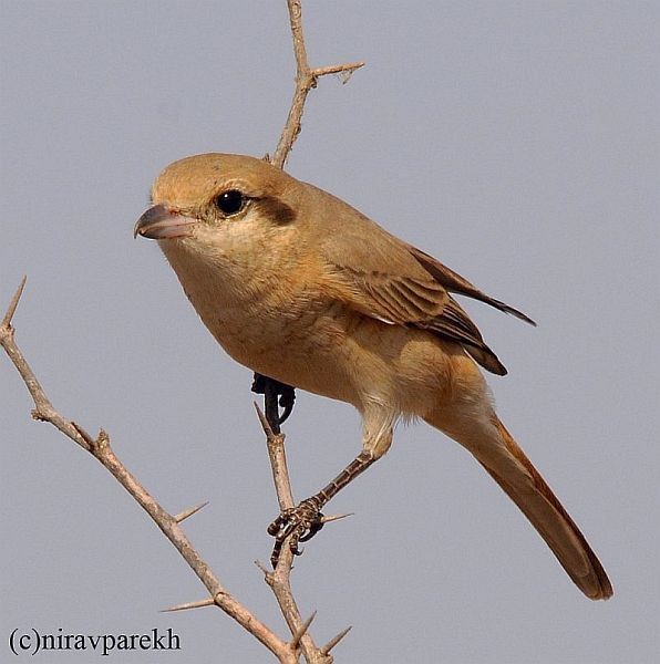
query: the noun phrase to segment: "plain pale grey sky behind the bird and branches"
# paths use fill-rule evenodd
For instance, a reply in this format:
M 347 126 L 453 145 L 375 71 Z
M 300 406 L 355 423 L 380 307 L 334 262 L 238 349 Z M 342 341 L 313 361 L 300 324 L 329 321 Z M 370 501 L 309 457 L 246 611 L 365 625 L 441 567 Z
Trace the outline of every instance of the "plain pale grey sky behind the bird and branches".
M 1 7 L 0 299 L 61 412 L 161 502 L 285 634 L 254 566 L 276 500 L 251 374 L 198 321 L 155 243 L 156 174 L 200 152 L 275 148 L 292 92 L 283 0 Z M 498 412 L 615 584 L 586 600 L 481 467 L 425 425 L 331 505 L 293 583 L 338 662 L 647 663 L 660 649 L 660 4 L 305 3 L 314 65 L 363 59 L 308 102 L 288 169 L 538 321 L 466 308 L 509 370 Z M 1 632 L 173 627 L 178 653 L 269 661 L 109 474 L 30 419 L 0 359 Z M 359 450 L 357 414 L 307 394 L 288 434 L 296 496 Z M 0 656 L 10 661 L 9 651 Z M 28 661 L 24 655 L 20 661 Z M 37 660 L 34 660 L 37 661 Z M 94 662 L 69 653 L 41 661 Z

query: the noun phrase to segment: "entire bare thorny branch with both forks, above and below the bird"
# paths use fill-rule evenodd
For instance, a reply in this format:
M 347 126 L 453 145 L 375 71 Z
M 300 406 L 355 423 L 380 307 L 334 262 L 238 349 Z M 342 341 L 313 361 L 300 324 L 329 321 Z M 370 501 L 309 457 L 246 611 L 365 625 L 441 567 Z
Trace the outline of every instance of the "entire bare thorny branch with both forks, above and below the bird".
M 305 102 L 309 91 L 312 87 L 316 87 L 318 79 L 328 74 L 342 74 L 346 82 L 357 69 L 364 64 L 363 62 L 354 62 L 311 69 L 307 61 L 307 51 L 302 33 L 301 1 L 287 0 L 287 4 L 293 38 L 297 75 L 296 90 L 287 123 L 271 159 L 271 163 L 279 168 L 283 167 L 293 143 L 300 133 L 300 121 Z M 302 654 L 309 664 L 331 664 L 332 656 L 330 655 L 330 650 L 346 636 L 350 627 L 341 631 L 323 646 L 319 647 L 314 644 L 309 634 L 309 627 L 316 616 L 316 611 L 307 620 L 302 620 L 290 587 L 290 572 L 293 554 L 289 547 L 282 547 L 276 570 L 269 571 L 259 564 L 265 573 L 267 583 L 274 591 L 291 632 L 291 640 L 286 642 L 267 625 L 260 622 L 254 613 L 224 588 L 220 580 L 197 553 L 190 540 L 183 531 L 181 522 L 196 513 L 204 505 L 192 507 L 178 515 L 168 513 L 121 463 L 111 447 L 107 433 L 101 429 L 96 438 L 94 438 L 80 425 L 73 421 L 66 419 L 54 408 L 14 340 L 12 320 L 24 286 L 25 278 L 22 279 L 7 309 L 2 322 L 0 323 L 0 345 L 18 370 L 34 402 L 32 417 L 52 424 L 68 438 L 92 454 L 149 515 L 209 592 L 209 596 L 205 599 L 179 604 L 168 609 L 168 611 L 181 611 L 215 604 L 258 639 L 280 662 L 285 664 L 295 664 L 299 662 L 300 655 Z M 272 404 L 270 404 L 270 407 L 272 407 Z M 291 494 L 283 446 L 285 436 L 279 432 L 277 434 L 274 433 L 266 416 L 258 407 L 257 411 L 267 438 L 268 454 L 279 507 L 280 509 L 293 507 L 293 497 Z M 341 517 L 329 517 L 327 518 L 327 521 L 336 520 L 337 518 Z

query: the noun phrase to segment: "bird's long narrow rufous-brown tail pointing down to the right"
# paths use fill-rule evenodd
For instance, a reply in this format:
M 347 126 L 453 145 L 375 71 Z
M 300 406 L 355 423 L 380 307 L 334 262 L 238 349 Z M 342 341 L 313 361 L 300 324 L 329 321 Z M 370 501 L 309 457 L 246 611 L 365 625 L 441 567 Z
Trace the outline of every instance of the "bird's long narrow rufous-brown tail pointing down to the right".
M 591 600 L 607 600 L 611 583 L 585 536 L 506 427 L 493 418 L 504 445 L 466 447 L 529 519 L 574 583 Z

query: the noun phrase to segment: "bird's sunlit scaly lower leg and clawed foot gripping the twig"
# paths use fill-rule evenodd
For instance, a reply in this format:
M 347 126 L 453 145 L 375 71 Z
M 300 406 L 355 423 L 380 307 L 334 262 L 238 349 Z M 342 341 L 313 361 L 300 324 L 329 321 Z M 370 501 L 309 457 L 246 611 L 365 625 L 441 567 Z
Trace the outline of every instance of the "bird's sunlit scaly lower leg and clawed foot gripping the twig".
M 275 537 L 275 546 L 270 562 L 274 568 L 277 567 L 282 544 L 289 539 L 289 548 L 295 556 L 300 556 L 302 551 L 298 548 L 298 542 L 310 540 L 322 527 L 323 515 L 322 507 L 341 489 L 348 486 L 358 475 L 367 470 L 380 455 L 371 449 L 363 449 L 334 479 L 326 485 L 318 494 L 311 498 L 302 500 L 297 507 L 285 509 L 272 523 L 268 527 L 268 533 Z

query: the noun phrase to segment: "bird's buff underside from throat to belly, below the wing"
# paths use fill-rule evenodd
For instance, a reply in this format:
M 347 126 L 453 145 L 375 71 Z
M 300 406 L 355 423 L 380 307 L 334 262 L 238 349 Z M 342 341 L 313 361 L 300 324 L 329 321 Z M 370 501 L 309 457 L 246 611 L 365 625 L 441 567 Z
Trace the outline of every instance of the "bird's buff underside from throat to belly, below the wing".
M 238 288 L 238 280 L 230 288 L 213 266 L 178 261 L 174 250 L 166 256 L 205 325 L 236 362 L 361 412 L 381 404 L 424 417 L 451 400 L 454 367 L 472 363 L 457 344 L 365 317 L 339 301 L 319 301 L 305 284 L 256 294 Z

